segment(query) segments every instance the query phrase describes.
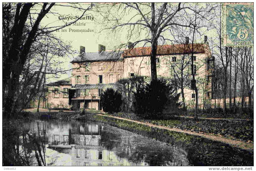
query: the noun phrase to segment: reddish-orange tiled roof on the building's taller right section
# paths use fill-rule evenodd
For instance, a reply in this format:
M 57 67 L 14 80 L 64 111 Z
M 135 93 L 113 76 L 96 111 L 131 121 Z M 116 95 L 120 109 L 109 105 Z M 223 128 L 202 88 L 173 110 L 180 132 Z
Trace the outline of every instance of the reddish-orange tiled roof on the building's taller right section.
M 193 44 L 194 53 L 205 53 L 204 44 Z M 190 54 L 192 44 L 158 45 L 157 55 Z M 124 51 L 124 57 L 150 56 L 151 47 L 137 47 Z

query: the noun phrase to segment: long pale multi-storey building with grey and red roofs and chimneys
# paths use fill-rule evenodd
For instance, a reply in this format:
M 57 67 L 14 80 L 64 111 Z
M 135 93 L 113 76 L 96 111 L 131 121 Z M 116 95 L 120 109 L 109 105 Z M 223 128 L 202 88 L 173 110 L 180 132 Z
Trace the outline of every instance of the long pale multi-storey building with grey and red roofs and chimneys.
M 98 52 L 86 52 L 85 47 L 80 46 L 80 54 L 71 61 L 72 76 L 49 84 L 52 93 L 50 93 L 48 102 L 56 107 L 62 106 L 62 104 L 68 107 L 68 89 L 71 89 L 74 91 L 71 98 L 74 106 L 83 108 L 85 105 L 86 108 L 101 110 L 99 95 L 104 89 L 115 88 L 114 83 L 120 78 L 151 75 L 150 50 L 151 47 L 131 48 L 129 46 L 127 50 L 113 52 L 105 51 L 105 46 L 99 45 Z M 192 51 L 193 66 L 191 64 Z M 157 76 L 171 79 L 179 77 L 177 72 L 180 70 L 180 65 L 185 63 L 183 75 L 186 74 L 187 85 L 184 87 L 184 101 L 186 106 L 193 108 L 195 91 L 191 87 L 191 70 L 193 69 L 197 80 L 199 104 L 206 103 L 211 99 L 209 65 L 212 60 L 214 59 L 210 54 L 207 37 L 202 44 L 192 45 L 187 42 L 185 44 L 159 45 L 156 58 Z M 177 81 L 178 78 L 173 80 Z M 202 87 L 202 91 L 200 87 Z M 178 92 L 180 92 L 179 87 L 177 88 Z

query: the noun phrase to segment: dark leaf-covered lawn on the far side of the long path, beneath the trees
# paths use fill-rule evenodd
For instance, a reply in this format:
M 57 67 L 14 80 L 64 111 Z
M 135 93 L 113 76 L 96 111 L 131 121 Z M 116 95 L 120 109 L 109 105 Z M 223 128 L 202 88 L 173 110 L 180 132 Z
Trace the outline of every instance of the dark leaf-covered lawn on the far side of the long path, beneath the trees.
M 253 120 L 231 121 L 231 120 L 209 120 L 185 117 L 170 117 L 169 120 L 145 120 L 135 114 L 111 114 L 126 119 L 148 122 L 155 125 L 178 128 L 197 133 L 206 133 L 216 136 L 223 136 L 229 139 L 253 142 Z

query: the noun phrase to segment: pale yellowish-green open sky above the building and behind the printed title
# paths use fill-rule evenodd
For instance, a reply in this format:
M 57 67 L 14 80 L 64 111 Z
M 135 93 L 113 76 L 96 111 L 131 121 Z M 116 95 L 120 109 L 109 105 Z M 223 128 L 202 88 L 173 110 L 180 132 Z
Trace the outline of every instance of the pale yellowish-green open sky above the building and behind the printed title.
M 81 11 L 74 10 L 74 8 L 70 7 L 63 7 L 63 6 L 57 6 L 52 9 L 54 12 L 58 12 L 61 16 L 63 16 L 61 19 L 58 18 L 58 16 L 55 15 L 48 15 L 48 18 L 44 18 L 41 22 L 41 25 L 48 24 L 49 26 L 56 26 L 56 25 L 63 25 L 65 22 L 70 22 L 71 20 L 75 20 L 76 16 L 81 15 Z M 71 18 L 65 18 L 67 16 L 72 16 Z M 80 25 L 71 25 L 65 28 L 65 31 L 59 30 L 58 32 L 54 32 L 54 34 L 57 37 L 60 37 L 62 40 L 71 41 L 71 46 L 74 50 L 79 51 L 80 46 L 84 46 L 86 49 L 86 52 L 94 52 L 98 51 L 98 44 L 102 44 L 106 46 L 106 50 L 113 48 L 116 45 L 120 45 L 121 43 L 127 43 L 127 30 L 123 30 L 122 32 L 118 32 L 116 34 L 110 32 L 110 31 L 103 31 L 100 32 L 100 29 L 103 28 L 102 25 L 97 23 L 97 20 L 101 18 L 101 16 L 93 11 L 88 11 L 85 15 L 85 17 L 91 17 L 91 20 L 80 20 L 77 22 L 77 24 Z M 93 17 L 93 20 L 92 20 Z M 129 19 L 130 16 L 127 16 Z M 127 19 L 126 18 L 126 19 Z M 91 32 L 75 32 L 73 30 L 76 29 L 85 29 L 85 30 L 91 30 Z M 92 31 L 93 30 L 93 31 Z M 168 33 L 169 31 L 166 31 L 164 35 L 167 38 L 170 38 L 170 35 Z M 210 37 L 216 37 L 216 33 L 212 31 L 205 31 L 204 35 L 208 36 L 208 40 L 210 40 Z M 204 40 L 204 35 L 201 35 L 198 37 L 198 40 L 196 40 L 196 43 L 202 42 Z M 65 59 L 65 63 L 63 65 L 63 68 L 65 69 L 71 69 L 71 63 L 72 55 L 68 59 Z M 67 78 L 71 76 L 71 71 L 67 74 L 62 74 L 61 77 L 57 80 L 61 80 L 64 78 Z M 57 81 L 56 79 L 49 79 L 50 82 Z

